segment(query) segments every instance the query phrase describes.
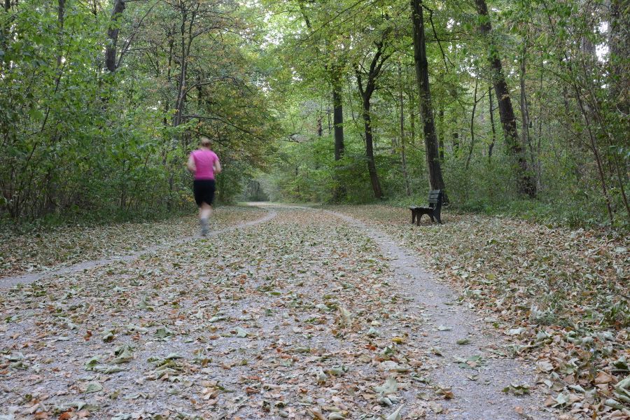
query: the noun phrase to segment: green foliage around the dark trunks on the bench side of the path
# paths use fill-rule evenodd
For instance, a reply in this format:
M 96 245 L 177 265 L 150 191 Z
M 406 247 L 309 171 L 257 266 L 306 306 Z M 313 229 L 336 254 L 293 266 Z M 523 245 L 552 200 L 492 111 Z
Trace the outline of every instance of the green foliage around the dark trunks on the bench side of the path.
M 287 13 L 271 22 L 281 33 L 281 41 L 270 49 L 290 66 L 290 76 L 286 73 L 272 87 L 282 92 L 276 98 L 276 106 L 282 110 L 279 119 L 293 137 L 291 141 L 281 139 L 282 153 L 262 182 L 266 191 L 274 200 L 331 202 L 335 191 L 342 188 L 345 202 L 373 201 L 352 66 L 360 66 L 362 57 L 374 50 L 373 39 L 362 38 L 365 34 L 393 27 L 393 55 L 384 66 L 370 110 L 375 162 L 387 200 L 423 202 L 429 186 L 423 139 L 418 136 L 422 127 L 418 92 L 414 91 L 408 4 L 396 2 L 395 12 L 377 7 L 358 18 L 360 6 L 346 1 L 334 6 L 281 3 Z M 433 9 L 425 31 L 427 36 L 433 35 L 427 46 L 430 85 L 451 208 L 574 228 L 627 228 L 630 215 L 624 194 L 627 197 L 630 190 L 630 155 L 624 138 L 630 127 L 623 111 L 627 109 L 627 65 L 620 51 L 627 51 L 628 45 L 619 32 L 627 20 L 624 15 L 617 17 L 616 30 L 621 36 L 617 39 L 603 29 L 611 17 L 601 2 L 580 7 L 577 3 L 488 1 L 491 13 L 481 18 L 470 5 L 463 7 L 459 1 L 426 6 Z M 272 5 L 269 8 L 275 10 Z M 304 26 L 306 18 L 313 34 Z M 334 25 L 329 25 L 331 20 Z M 480 36 L 477 26 L 482 23 L 491 23 L 492 43 Z M 435 42 L 435 36 L 444 41 Z M 335 45 L 332 51 L 330 45 Z M 523 157 L 538 189 L 535 200 L 519 197 L 518 167 L 505 153 L 496 94 L 489 92 L 494 77 L 486 64 L 489 45 L 493 57 L 503 63 Z M 603 48 L 612 52 L 603 55 Z M 332 160 L 332 134 L 325 130 L 331 109 L 325 70 L 335 59 L 344 66 L 346 155 L 339 162 Z M 475 85 L 477 95 L 473 97 Z M 402 135 L 399 91 L 405 114 Z M 523 101 L 525 106 L 521 106 Z M 527 112 L 526 126 L 523 110 Z M 316 136 L 318 120 L 323 121 L 322 137 Z M 403 146 L 406 168 L 402 165 Z

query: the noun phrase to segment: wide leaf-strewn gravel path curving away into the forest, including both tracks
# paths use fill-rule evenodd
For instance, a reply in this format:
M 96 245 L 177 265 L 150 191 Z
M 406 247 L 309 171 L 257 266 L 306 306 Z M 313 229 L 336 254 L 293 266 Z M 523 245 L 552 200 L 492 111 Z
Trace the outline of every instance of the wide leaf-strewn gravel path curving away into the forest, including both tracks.
M 551 418 L 502 392 L 531 372 L 404 248 L 267 209 L 6 289 L 0 419 Z

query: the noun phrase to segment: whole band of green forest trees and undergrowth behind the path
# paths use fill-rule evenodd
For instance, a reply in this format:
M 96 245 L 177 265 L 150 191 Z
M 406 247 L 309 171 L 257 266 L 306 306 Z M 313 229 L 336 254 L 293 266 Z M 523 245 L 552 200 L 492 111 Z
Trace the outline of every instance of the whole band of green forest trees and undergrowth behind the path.
M 223 202 L 410 204 L 629 224 L 622 0 L 3 0 L 6 220 Z

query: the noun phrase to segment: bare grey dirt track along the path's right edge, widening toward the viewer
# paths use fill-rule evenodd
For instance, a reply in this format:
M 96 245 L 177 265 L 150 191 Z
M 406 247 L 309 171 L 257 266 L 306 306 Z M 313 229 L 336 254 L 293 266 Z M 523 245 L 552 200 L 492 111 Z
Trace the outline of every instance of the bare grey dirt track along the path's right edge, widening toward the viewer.
M 435 369 L 430 377 L 437 384 L 452 389 L 455 398 L 445 405 L 452 409 L 452 419 L 551 419 L 540 412 L 540 397 L 515 396 L 503 392 L 510 384 L 533 388 L 533 367 L 510 358 L 498 357 L 505 351 L 503 340 L 491 330 L 489 323 L 458 304 L 456 294 L 438 283 L 416 258 L 383 232 L 368 227 L 350 216 L 326 211 L 365 230 L 379 244 L 395 271 L 395 280 L 409 296 L 409 310 L 426 321 L 419 337 L 419 346 L 430 354 Z M 458 344 L 468 342 L 468 344 Z M 481 356 L 481 358 L 479 358 Z M 480 366 L 468 370 L 461 366 Z M 518 411 L 518 412 L 517 412 Z M 522 414 L 519 414 L 521 412 Z

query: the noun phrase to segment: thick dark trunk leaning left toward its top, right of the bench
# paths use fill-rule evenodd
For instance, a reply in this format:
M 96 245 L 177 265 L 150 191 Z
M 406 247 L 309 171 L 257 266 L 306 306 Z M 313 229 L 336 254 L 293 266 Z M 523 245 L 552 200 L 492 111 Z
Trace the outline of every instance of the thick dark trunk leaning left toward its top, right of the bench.
M 489 46 L 488 60 L 492 69 L 492 83 L 494 92 L 498 102 L 499 117 L 501 127 L 503 128 L 503 136 L 507 145 L 507 151 L 518 162 L 518 191 L 520 195 L 528 195 L 535 197 L 536 186 L 529 174 L 527 160 L 524 157 L 523 148 L 519 141 L 519 133 L 517 130 L 516 116 L 514 116 L 514 108 L 510 99 L 510 90 L 507 88 L 505 75 L 503 74 L 503 66 L 496 52 L 496 45 L 491 40 L 490 17 L 488 15 L 488 6 L 485 0 L 475 0 L 477 5 L 477 13 L 482 17 L 482 23 L 479 30 L 486 36 Z

